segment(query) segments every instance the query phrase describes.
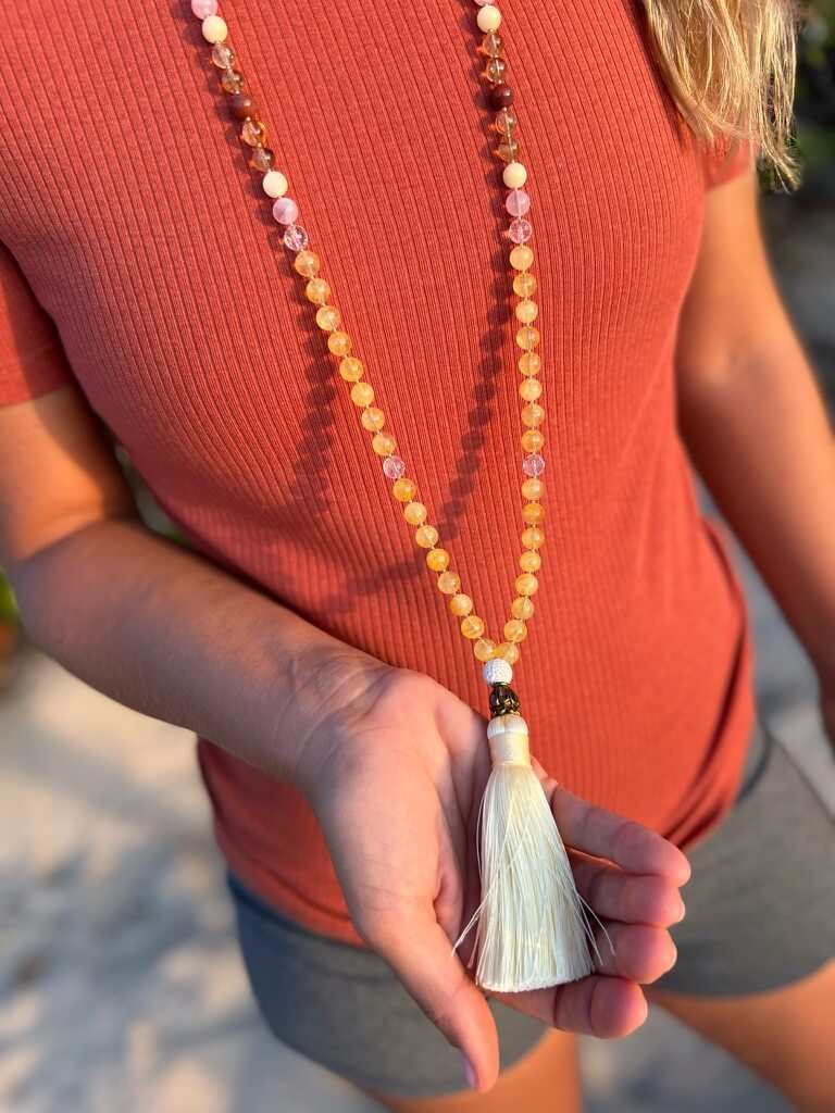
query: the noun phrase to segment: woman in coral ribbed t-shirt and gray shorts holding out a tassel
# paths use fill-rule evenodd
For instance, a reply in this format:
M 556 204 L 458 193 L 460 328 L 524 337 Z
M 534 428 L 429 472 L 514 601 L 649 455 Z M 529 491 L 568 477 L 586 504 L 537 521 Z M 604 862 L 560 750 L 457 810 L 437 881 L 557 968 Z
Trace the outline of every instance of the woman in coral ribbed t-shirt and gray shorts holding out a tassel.
M 832 435 L 750 157 L 787 166 L 788 14 L 581 0 L 508 4 L 501 26 L 550 462 L 514 683 L 613 954 L 488 998 L 468 947 L 448 958 L 477 903 L 481 666 L 393 512 L 264 209 L 268 162 L 254 175 L 225 101 L 250 95 L 262 147 L 275 137 L 385 429 L 494 624 L 522 476 L 477 49 L 493 17 L 229 0 L 242 93 L 194 19 L 214 4 L 190 7 L 0 4 L 0 560 L 26 626 L 197 732 L 264 1015 L 387 1107 L 577 1107 L 574 1034 L 626 1035 L 647 998 L 798 1109 L 829 1107 L 832 828 L 756 720 L 741 594 L 686 456 L 832 707 Z M 106 430 L 189 550 L 137 519 Z

